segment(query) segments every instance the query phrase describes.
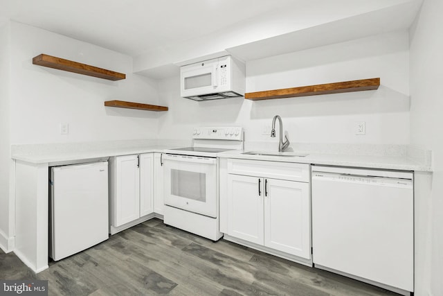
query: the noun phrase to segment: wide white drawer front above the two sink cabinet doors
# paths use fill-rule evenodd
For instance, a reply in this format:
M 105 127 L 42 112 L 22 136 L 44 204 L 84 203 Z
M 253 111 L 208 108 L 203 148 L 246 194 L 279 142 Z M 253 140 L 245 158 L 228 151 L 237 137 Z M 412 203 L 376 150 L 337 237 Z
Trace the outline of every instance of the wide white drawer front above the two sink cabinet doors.
M 273 179 L 309 182 L 309 164 L 228 159 L 228 173 Z

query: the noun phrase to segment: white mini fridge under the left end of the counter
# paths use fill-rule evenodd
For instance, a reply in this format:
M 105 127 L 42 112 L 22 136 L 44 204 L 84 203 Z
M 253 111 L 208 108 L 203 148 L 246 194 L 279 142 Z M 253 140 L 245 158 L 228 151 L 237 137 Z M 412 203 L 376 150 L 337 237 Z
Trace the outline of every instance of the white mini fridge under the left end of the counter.
M 50 253 L 64 259 L 109 238 L 108 163 L 54 166 L 50 175 Z

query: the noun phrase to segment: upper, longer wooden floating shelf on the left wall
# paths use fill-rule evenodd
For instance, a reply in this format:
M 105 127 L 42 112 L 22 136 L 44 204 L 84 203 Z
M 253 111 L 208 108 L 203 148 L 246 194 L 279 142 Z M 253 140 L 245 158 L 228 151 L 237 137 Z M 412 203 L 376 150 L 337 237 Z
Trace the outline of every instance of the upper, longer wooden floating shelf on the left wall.
M 44 53 L 33 58 L 33 64 L 113 81 L 126 78 L 126 74 L 123 73 L 93 67 L 89 64 L 82 64 L 80 62 L 56 58 L 52 55 L 45 55 Z

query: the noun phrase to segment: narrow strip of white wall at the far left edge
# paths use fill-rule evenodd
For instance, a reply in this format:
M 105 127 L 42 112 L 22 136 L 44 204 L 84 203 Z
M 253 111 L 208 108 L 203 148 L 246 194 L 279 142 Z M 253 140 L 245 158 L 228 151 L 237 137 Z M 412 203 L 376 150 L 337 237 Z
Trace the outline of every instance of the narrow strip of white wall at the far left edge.
M 9 24 L 0 26 L 0 247 L 9 251 L 10 233 L 10 124 L 9 124 L 9 78 L 10 35 Z

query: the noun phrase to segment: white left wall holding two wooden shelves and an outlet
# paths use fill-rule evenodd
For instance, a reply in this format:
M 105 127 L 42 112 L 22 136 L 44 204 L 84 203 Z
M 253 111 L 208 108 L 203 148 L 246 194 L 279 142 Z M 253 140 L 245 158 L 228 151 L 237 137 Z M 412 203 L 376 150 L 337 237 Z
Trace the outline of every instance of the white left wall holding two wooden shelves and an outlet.
M 132 74 L 132 58 L 39 28 L 11 22 L 11 143 L 156 137 L 161 114 L 104 107 L 109 100 L 156 105 L 155 80 Z M 110 81 L 32 64 L 40 53 L 126 73 Z M 69 123 L 69 134 L 60 134 Z

